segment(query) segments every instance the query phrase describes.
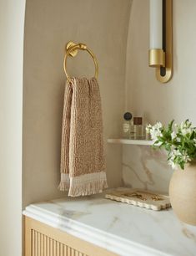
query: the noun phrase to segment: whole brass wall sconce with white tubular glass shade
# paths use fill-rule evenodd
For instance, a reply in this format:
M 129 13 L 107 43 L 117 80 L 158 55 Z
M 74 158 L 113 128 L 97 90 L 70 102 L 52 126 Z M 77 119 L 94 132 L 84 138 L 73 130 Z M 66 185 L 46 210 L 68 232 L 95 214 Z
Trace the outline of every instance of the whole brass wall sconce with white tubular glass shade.
M 173 0 L 150 0 L 150 49 L 148 64 L 156 68 L 156 77 L 167 83 L 173 75 Z

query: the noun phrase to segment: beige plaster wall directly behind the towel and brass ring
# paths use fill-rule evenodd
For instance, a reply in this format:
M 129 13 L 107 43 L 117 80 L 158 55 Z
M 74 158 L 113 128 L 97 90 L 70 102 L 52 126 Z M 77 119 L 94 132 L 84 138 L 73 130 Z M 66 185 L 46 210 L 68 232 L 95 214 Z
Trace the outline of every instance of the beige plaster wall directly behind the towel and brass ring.
M 69 40 L 93 49 L 99 63 L 104 137 L 118 136 L 124 105 L 124 78 L 130 0 L 27 1 L 23 84 L 23 204 L 58 192 L 63 112 L 64 46 Z M 74 75 L 92 75 L 86 53 L 68 61 Z M 108 146 L 109 186 L 120 186 L 122 151 Z

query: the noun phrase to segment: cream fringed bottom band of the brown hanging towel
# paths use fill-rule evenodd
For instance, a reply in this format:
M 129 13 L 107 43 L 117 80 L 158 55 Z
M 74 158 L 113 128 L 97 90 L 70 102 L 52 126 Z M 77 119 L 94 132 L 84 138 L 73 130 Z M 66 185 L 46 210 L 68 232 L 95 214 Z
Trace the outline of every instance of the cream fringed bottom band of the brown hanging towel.
M 88 196 L 103 192 L 108 187 L 105 172 L 94 172 L 79 177 L 70 177 L 67 173 L 61 173 L 59 189 L 68 190 L 69 197 Z

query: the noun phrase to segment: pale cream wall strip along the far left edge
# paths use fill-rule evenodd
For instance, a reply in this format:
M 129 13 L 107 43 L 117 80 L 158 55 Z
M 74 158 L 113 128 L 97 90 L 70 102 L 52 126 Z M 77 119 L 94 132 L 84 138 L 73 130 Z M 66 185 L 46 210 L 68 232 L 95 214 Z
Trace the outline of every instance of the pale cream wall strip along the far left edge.
M 22 254 L 25 1 L 0 3 L 0 255 Z

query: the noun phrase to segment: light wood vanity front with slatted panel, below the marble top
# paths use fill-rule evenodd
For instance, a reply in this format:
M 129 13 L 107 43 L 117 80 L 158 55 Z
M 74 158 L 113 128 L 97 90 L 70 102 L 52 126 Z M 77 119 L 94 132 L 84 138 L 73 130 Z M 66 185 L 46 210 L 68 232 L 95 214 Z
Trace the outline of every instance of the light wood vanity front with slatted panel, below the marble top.
M 104 248 L 25 217 L 25 256 L 115 256 Z

